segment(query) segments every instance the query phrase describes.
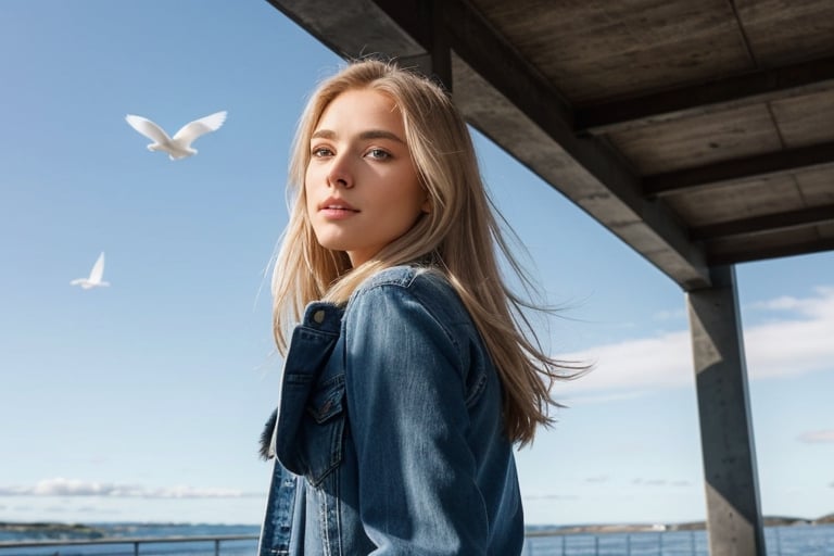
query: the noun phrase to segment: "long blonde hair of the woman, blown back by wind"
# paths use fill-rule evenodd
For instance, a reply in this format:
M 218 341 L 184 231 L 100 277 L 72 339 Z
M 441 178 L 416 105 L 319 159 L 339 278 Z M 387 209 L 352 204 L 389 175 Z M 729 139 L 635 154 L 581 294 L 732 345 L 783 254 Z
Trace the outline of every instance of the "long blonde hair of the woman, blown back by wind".
M 431 211 L 375 257 L 353 268 L 346 253 L 330 251 L 316 241 L 306 212 L 304 179 L 311 136 L 321 114 L 336 97 L 355 89 L 384 93 L 399 106 Z M 288 190 L 290 220 L 273 274 L 273 325 L 281 353 L 307 303 L 346 303 L 357 286 L 378 270 L 429 258 L 457 291 L 498 370 L 509 439 L 523 445 L 532 441 L 539 425 L 553 422 L 549 409 L 558 406 L 549 395 L 554 381 L 572 377 L 581 367 L 543 352 L 523 315 L 525 309 L 536 307 L 504 283 L 495 248 L 523 283 L 530 282 L 502 237 L 466 124 L 440 86 L 378 60 L 351 63 L 325 80 L 299 122 Z

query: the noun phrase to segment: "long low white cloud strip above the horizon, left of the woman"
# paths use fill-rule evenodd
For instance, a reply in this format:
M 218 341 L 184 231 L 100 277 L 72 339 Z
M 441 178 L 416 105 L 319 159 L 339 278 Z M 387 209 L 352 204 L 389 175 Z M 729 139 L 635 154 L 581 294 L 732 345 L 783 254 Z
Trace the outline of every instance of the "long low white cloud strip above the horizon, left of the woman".
M 140 498 L 239 498 L 252 496 L 235 489 L 205 489 L 187 485 L 149 489 L 139 484 L 80 481 L 77 479 L 43 479 L 35 485 L 0 486 L 5 496 L 110 496 Z

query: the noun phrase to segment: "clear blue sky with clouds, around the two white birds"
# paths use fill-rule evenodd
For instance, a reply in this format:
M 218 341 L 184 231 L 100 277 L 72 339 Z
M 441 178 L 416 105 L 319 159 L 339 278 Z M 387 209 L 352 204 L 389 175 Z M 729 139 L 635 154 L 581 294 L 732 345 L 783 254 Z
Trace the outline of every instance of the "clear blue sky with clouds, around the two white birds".
M 257 523 L 287 153 L 341 61 L 265 0 L 0 2 L 0 520 Z M 172 162 L 169 131 L 228 111 Z M 703 519 L 683 292 L 482 137 L 483 175 L 597 362 L 518 453 L 531 523 Z M 110 288 L 70 286 L 106 253 Z M 834 511 L 834 253 L 736 268 L 766 514 Z

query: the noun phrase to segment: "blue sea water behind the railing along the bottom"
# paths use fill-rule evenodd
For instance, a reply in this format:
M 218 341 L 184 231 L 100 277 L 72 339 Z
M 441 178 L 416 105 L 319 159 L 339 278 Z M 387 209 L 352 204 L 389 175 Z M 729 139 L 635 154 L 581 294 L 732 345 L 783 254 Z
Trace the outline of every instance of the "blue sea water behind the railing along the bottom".
M 96 525 L 104 536 L 160 538 L 256 535 L 256 526 L 213 525 Z M 41 540 L 47 540 L 45 536 Z M 75 538 L 75 539 L 83 539 Z M 0 531 L 0 541 L 34 540 L 31 535 Z M 834 556 L 834 525 L 768 527 L 764 529 L 768 556 Z M 255 540 L 223 541 L 220 556 L 252 556 Z M 0 556 L 131 556 L 132 544 L 55 545 L 43 547 L 0 547 Z M 140 544 L 140 556 L 214 556 L 213 542 Z M 708 556 L 705 531 L 661 531 L 641 533 L 568 534 L 530 536 L 523 556 Z

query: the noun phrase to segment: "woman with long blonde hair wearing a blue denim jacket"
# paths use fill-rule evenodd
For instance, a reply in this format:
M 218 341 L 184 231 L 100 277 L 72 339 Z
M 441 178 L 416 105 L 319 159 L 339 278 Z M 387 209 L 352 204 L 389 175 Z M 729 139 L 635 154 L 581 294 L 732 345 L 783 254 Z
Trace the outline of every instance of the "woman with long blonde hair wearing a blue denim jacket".
M 460 115 L 424 77 L 353 63 L 302 115 L 290 187 L 260 554 L 520 554 L 513 445 L 552 421 L 566 367 L 502 281 L 495 247 L 518 266 Z

